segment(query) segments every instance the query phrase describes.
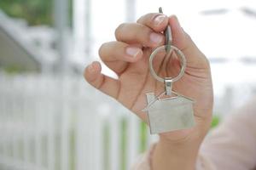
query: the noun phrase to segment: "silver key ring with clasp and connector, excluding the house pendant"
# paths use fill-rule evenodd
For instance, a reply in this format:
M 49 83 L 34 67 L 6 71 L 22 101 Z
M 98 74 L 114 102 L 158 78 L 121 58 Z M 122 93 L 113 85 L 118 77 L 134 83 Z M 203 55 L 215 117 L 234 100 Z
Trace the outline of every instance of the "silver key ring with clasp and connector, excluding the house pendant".
M 159 8 L 159 12 L 163 13 L 162 8 Z M 149 70 L 150 70 L 150 73 L 152 74 L 152 76 L 156 80 L 158 80 L 160 82 L 164 82 L 166 84 L 166 94 L 171 95 L 172 94 L 172 82 L 176 82 L 181 77 L 183 77 L 183 74 L 186 69 L 186 58 L 180 49 L 178 49 L 177 47 L 172 45 L 172 30 L 171 30 L 170 26 L 166 27 L 166 30 L 164 31 L 164 33 L 165 33 L 165 37 L 166 37 L 166 45 L 160 46 L 159 48 L 154 49 L 154 52 L 149 57 Z M 154 68 L 153 68 L 153 59 L 156 56 L 156 54 L 158 54 L 163 49 L 166 50 L 166 54 L 170 54 L 171 50 L 174 50 L 177 54 L 177 57 L 179 59 L 181 59 L 181 70 L 180 70 L 179 74 L 177 75 L 177 77 L 163 78 L 163 77 L 159 77 L 155 73 Z

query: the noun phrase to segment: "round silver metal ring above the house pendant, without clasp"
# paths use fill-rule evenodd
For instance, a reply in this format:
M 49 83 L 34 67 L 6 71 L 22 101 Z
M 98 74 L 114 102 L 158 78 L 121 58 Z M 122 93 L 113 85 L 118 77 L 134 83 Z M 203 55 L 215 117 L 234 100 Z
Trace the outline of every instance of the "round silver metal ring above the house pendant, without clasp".
M 165 77 L 165 78 L 162 78 L 162 77 L 159 77 L 155 72 L 154 72 L 154 68 L 153 68 L 153 59 L 155 57 L 156 54 L 159 53 L 160 50 L 166 50 L 166 48 L 170 48 L 170 49 L 173 49 L 177 56 L 181 59 L 181 70 L 179 72 L 179 74 L 177 75 L 177 77 Z M 159 48 L 156 48 L 154 50 L 154 52 L 150 55 L 149 57 L 149 70 L 152 74 L 152 76 L 160 81 L 160 82 L 165 82 L 165 80 L 170 80 L 172 82 L 176 82 L 178 79 L 180 79 L 181 77 L 183 77 L 183 74 L 185 72 L 185 69 L 186 69 L 186 58 L 185 58 L 185 55 L 183 54 L 183 52 L 178 49 L 177 47 L 175 46 L 168 46 L 168 45 L 163 45 L 163 46 L 160 46 Z

